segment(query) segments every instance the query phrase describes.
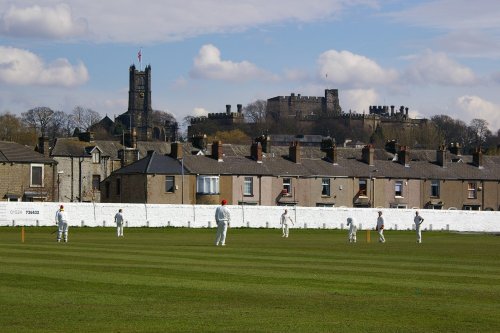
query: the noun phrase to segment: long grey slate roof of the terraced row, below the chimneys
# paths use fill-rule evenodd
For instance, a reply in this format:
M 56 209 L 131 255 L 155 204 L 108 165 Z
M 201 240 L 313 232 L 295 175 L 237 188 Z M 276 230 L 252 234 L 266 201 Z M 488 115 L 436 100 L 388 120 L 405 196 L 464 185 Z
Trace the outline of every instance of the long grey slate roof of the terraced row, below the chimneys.
M 223 145 L 223 161 L 207 156 L 186 155 L 184 165 L 195 174 L 275 175 L 302 177 L 359 177 L 403 179 L 477 179 L 500 180 L 500 156 L 483 155 L 483 167 L 472 164 L 471 155 L 447 153 L 446 166 L 436 162 L 435 150 L 410 150 L 408 166 L 394 160 L 394 154 L 375 149 L 374 165 L 361 160 L 361 148 L 337 147 L 337 162 L 325 159 L 319 147 L 301 147 L 301 161 L 288 159 L 288 147 L 272 146 L 271 153 L 263 154 L 263 162 L 250 158 L 249 145 Z

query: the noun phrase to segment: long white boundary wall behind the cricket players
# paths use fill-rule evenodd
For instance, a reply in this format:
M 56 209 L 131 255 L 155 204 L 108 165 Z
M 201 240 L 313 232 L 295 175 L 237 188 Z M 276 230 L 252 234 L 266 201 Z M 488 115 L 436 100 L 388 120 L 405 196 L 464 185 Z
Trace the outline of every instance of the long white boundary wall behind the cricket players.
M 65 203 L 71 226 L 113 227 L 119 208 L 128 227 L 214 228 L 215 208 L 208 205 L 145 205 Z M 0 202 L 0 226 L 54 226 L 58 203 Z M 385 228 L 414 229 L 414 209 L 228 206 L 232 228 L 279 228 L 283 210 L 295 222 L 294 228 L 346 229 L 353 217 L 359 230 L 374 229 L 377 211 L 382 210 Z M 421 209 L 424 230 L 500 232 L 500 212 Z

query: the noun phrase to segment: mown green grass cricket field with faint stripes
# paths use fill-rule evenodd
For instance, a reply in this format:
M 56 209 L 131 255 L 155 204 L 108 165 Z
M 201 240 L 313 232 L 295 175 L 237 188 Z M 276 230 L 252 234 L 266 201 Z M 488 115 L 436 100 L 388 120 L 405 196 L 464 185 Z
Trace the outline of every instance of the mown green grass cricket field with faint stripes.
M 0 228 L 1 332 L 499 332 L 500 237 Z

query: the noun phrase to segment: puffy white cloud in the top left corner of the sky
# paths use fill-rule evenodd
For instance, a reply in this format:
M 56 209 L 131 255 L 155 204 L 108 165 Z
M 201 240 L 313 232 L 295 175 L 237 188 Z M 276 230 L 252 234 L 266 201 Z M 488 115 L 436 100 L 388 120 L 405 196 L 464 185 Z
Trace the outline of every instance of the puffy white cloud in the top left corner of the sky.
M 0 33 L 14 37 L 66 38 L 82 36 L 87 22 L 75 19 L 66 4 L 53 7 L 12 5 L 0 18 Z

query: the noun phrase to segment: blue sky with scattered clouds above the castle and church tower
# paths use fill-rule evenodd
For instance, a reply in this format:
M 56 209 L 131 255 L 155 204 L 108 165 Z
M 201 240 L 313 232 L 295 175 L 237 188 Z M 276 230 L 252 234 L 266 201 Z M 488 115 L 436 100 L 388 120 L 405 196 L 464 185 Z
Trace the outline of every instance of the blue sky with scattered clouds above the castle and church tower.
M 344 111 L 500 129 L 497 0 L 0 0 L 0 112 L 126 111 L 128 68 L 178 120 L 339 89 Z M 328 74 L 328 75 L 327 75 Z

